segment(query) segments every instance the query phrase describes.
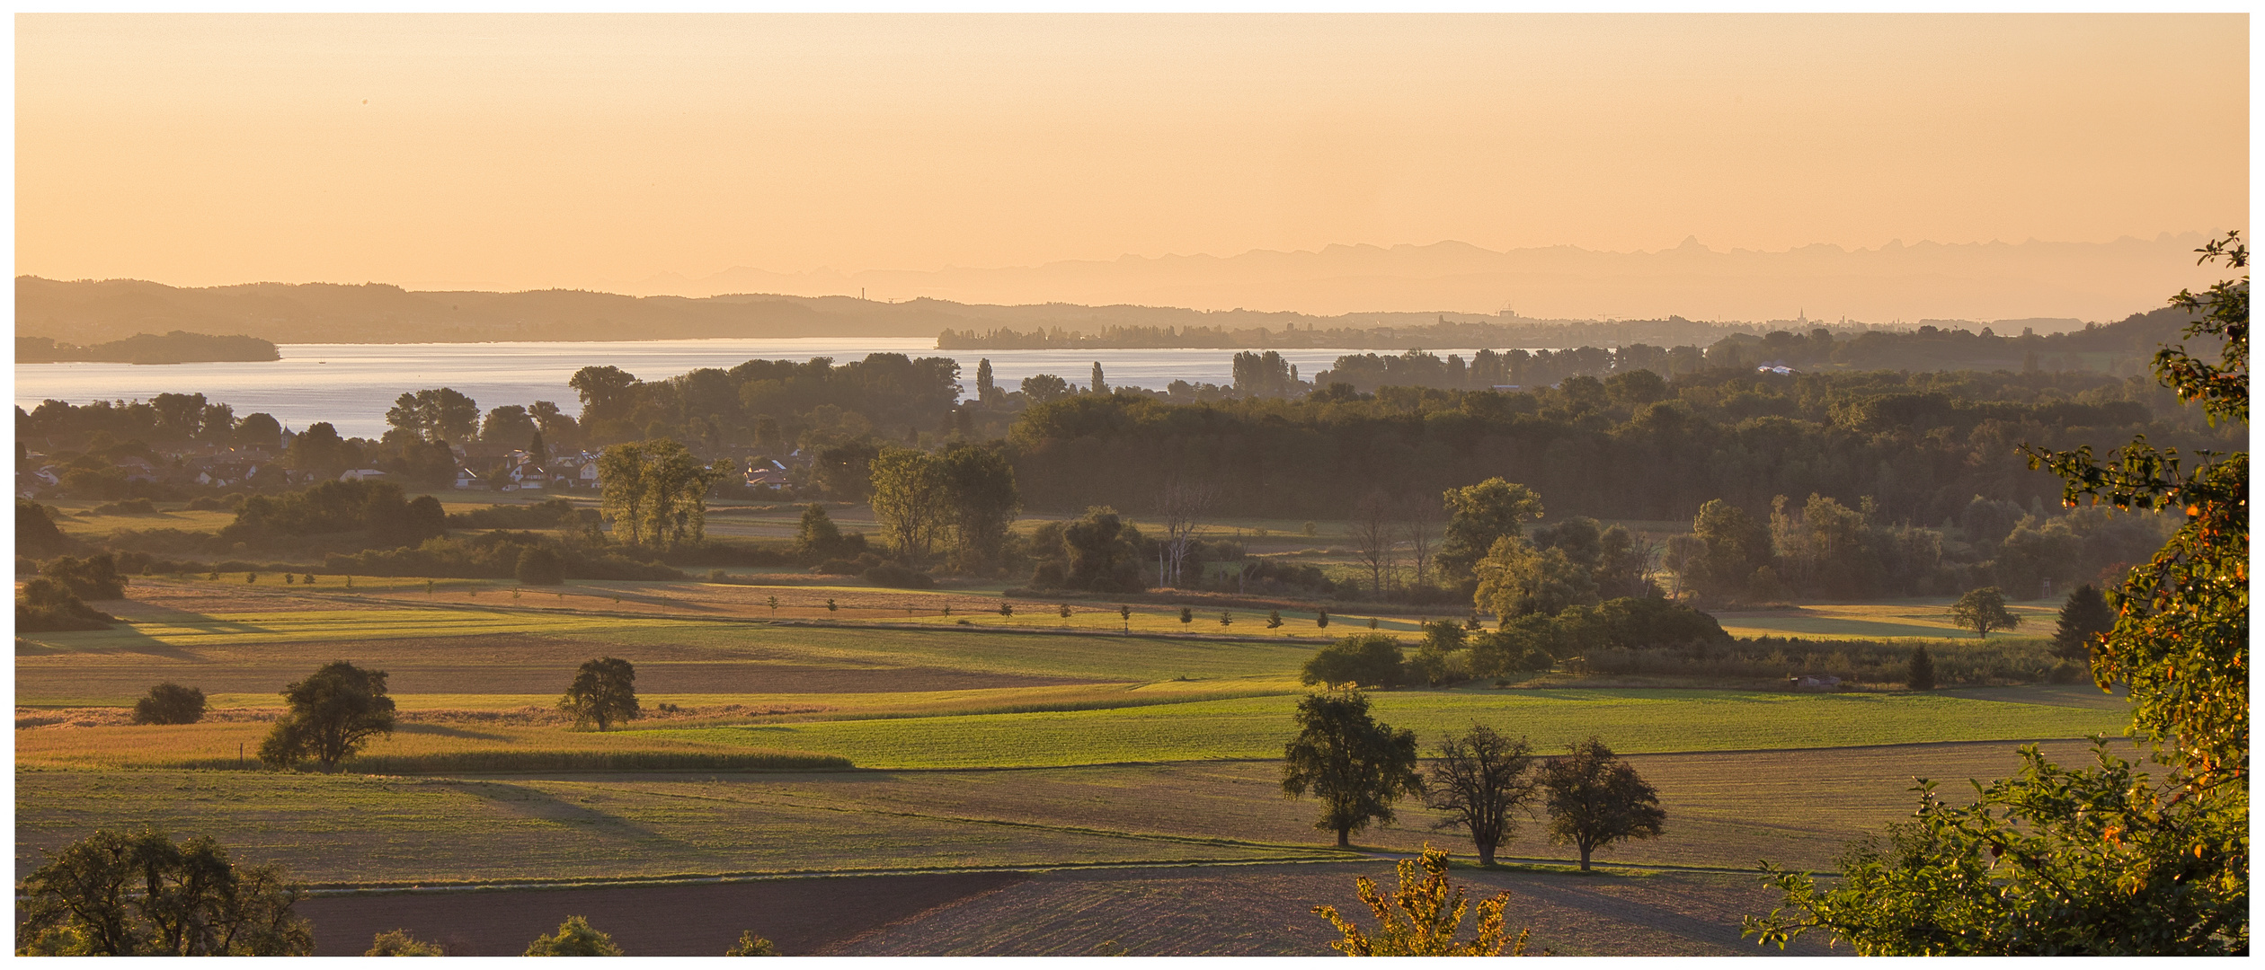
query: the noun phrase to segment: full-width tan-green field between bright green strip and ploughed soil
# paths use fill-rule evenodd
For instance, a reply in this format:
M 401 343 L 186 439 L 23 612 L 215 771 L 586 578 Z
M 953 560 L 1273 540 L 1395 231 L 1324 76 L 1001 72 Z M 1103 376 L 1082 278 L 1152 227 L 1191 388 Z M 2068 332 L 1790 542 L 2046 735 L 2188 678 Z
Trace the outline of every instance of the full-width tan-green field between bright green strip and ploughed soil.
M 2070 764 L 2082 744 L 2048 755 Z M 1959 780 L 2007 776 L 2016 757 L 1950 744 L 1633 764 L 1660 789 L 1667 832 L 1608 848 L 1601 864 L 1749 868 L 1767 855 L 1830 868 L 1844 841 L 1909 814 L 1912 776 L 1955 798 Z M 20 871 L 95 828 L 154 823 L 331 884 L 1336 857 L 1314 803 L 1282 798 L 1277 773 L 1273 762 L 485 780 L 18 769 L 16 852 Z M 1434 821 L 1407 800 L 1395 825 L 1357 841 L 1465 855 Z M 1520 819 L 1504 857 L 1567 850 Z

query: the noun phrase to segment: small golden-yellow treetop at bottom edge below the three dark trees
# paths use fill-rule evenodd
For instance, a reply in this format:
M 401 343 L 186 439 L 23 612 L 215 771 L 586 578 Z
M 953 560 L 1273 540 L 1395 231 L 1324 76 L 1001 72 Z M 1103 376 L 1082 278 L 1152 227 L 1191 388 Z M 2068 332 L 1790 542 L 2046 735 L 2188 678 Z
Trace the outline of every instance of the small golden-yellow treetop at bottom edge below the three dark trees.
M 1377 929 L 1370 934 L 1339 916 L 1336 907 L 1314 907 L 1316 916 L 1327 918 L 1339 934 L 1345 934 L 1343 941 L 1330 943 L 1332 950 L 1345 956 L 1502 956 L 1504 947 L 1511 950 L 1511 956 L 1527 954 L 1531 929 L 1520 929 L 1518 938 L 1508 938 L 1502 923 L 1502 909 L 1511 902 L 1506 891 L 1479 900 L 1479 918 L 1470 941 L 1454 938 L 1463 929 L 1470 902 L 1463 900 L 1463 886 L 1447 882 L 1447 852 L 1425 843 L 1420 857 L 1400 859 L 1395 871 L 1400 891 L 1391 898 L 1379 893 L 1366 875 L 1354 880 L 1361 902 L 1377 916 Z

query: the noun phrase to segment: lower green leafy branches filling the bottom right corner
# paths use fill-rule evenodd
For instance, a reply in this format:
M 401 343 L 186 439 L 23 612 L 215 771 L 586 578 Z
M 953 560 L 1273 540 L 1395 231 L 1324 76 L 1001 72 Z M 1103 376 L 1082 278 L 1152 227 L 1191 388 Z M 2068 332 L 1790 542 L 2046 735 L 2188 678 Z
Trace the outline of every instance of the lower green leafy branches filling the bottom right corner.
M 1864 956 L 2211 956 L 2247 950 L 2247 814 L 2195 809 L 2177 782 L 2095 748 L 2093 769 L 2036 751 L 2018 778 L 1946 805 L 1921 780 L 1918 816 L 1841 857 L 1841 882 L 1764 864 L 1787 904 L 1746 918 L 1780 947 L 1823 929 Z

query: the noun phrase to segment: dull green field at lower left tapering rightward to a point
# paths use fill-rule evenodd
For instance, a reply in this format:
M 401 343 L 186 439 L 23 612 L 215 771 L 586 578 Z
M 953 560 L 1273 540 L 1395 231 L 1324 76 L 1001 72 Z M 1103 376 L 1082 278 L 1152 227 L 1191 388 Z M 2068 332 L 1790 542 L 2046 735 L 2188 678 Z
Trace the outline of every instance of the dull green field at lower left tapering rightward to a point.
M 18 871 L 95 828 L 211 834 L 317 884 L 829 873 L 1110 861 L 1289 861 L 1320 846 L 804 803 L 754 778 L 419 780 L 236 771 L 16 773 Z M 870 776 L 829 776 L 843 794 Z

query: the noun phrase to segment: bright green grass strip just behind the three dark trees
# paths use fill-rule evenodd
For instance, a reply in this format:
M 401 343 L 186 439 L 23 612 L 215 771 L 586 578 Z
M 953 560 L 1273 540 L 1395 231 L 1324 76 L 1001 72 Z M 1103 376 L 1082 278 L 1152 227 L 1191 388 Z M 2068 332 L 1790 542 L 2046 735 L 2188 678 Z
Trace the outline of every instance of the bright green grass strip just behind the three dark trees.
M 1280 757 L 1296 696 L 1074 712 L 650 730 L 718 744 L 822 751 L 877 769 L 1062 767 Z M 2125 712 L 1923 694 L 1533 690 L 1377 694 L 1377 719 L 1427 744 L 1488 724 L 1558 748 L 1588 735 L 1617 751 L 1755 751 L 2084 737 Z

